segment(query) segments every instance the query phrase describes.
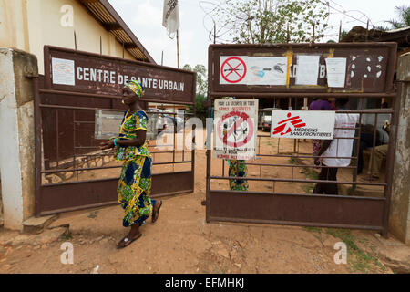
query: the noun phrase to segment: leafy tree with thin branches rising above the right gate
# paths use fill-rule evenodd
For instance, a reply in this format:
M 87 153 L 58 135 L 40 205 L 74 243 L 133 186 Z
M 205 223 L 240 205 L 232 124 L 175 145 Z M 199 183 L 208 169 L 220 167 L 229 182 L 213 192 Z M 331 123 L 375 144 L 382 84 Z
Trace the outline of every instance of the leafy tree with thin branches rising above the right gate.
M 322 38 L 327 8 L 320 0 L 225 0 L 211 13 L 234 43 L 272 44 Z

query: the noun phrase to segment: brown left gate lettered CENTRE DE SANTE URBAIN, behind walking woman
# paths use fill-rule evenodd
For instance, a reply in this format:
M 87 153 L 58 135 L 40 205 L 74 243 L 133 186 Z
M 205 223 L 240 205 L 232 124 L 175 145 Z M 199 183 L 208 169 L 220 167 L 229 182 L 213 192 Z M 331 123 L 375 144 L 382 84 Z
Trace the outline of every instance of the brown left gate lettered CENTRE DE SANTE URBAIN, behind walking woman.
M 35 78 L 36 215 L 56 214 L 117 202 L 121 164 L 112 151 L 100 151 L 95 139 L 96 110 L 124 112 L 124 80 L 140 79 L 141 99 L 190 105 L 195 112 L 196 73 L 149 63 L 106 57 L 60 47 L 45 47 L 45 76 Z M 157 112 L 149 112 L 156 115 Z M 171 114 L 172 115 L 172 114 Z M 193 147 L 153 156 L 151 197 L 191 193 Z M 194 138 L 193 138 L 194 139 Z

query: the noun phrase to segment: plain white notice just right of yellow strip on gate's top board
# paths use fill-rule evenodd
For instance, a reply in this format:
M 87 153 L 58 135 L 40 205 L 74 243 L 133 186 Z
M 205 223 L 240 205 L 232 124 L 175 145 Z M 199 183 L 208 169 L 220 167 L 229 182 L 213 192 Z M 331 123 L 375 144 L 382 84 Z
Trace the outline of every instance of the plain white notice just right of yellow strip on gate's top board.
M 317 85 L 319 75 L 319 55 L 298 55 L 296 85 Z

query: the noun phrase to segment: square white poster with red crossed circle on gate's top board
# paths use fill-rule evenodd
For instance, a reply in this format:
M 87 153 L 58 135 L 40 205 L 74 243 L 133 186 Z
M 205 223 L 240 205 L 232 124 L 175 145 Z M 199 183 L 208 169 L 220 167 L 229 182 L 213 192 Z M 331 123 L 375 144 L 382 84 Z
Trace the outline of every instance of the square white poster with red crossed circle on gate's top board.
M 246 84 L 247 56 L 220 57 L 220 84 Z

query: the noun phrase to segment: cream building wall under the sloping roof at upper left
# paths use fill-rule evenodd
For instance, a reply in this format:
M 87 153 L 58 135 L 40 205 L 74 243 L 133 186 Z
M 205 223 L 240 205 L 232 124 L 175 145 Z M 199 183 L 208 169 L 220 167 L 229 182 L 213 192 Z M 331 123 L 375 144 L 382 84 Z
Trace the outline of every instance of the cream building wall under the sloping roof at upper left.
M 64 21 L 69 13 L 62 10 L 65 5 L 73 7 L 73 26 L 63 26 L 69 24 Z M 40 74 L 44 74 L 43 47 L 74 49 L 74 31 L 78 50 L 99 54 L 101 36 L 103 55 L 122 57 L 122 45 L 76 0 L 0 0 L 0 19 L 0 47 L 35 55 Z M 127 50 L 124 57 L 135 59 Z

